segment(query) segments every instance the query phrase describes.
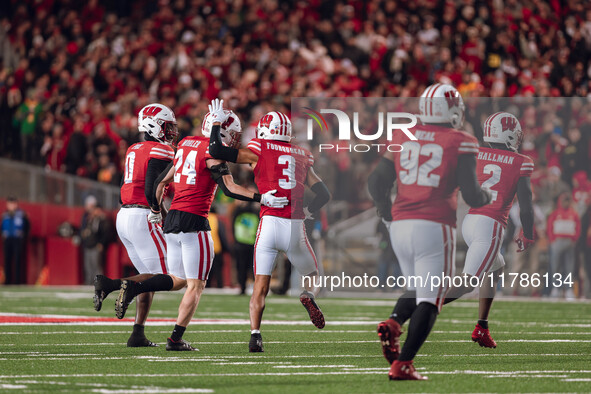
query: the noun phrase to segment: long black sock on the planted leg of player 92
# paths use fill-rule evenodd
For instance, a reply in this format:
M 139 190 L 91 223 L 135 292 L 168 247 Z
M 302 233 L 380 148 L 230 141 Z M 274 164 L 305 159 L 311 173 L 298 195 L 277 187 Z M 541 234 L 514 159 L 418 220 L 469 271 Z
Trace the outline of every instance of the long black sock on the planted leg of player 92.
M 399 361 L 410 361 L 415 358 L 435 324 L 437 313 L 437 307 L 429 302 L 421 302 L 417 306 L 410 318 L 408 336 L 400 351 Z

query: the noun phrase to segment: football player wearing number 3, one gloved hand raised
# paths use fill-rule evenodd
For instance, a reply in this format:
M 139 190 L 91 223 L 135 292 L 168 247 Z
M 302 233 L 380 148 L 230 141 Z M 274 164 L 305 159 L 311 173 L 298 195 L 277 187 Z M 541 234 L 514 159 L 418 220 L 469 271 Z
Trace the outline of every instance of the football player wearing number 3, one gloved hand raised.
M 214 105 L 222 105 L 215 103 Z M 318 275 L 318 264 L 310 247 L 304 219 L 317 212 L 330 200 L 330 192 L 316 175 L 312 165 L 314 157 L 307 150 L 291 143 L 291 121 L 281 112 L 269 112 L 257 126 L 257 138 L 247 148 L 233 149 L 224 146 L 219 133 L 212 132 L 209 151 L 213 157 L 234 163 L 250 164 L 254 168 L 255 183 L 260 192 L 278 190 L 278 196 L 289 199 L 284 208 L 261 209 L 261 221 L 254 245 L 254 289 L 250 299 L 250 352 L 263 351 L 261 320 L 265 298 L 269 293 L 271 273 L 275 257 L 284 252 L 300 274 L 312 280 L 304 282 L 305 290 L 300 302 L 317 328 L 324 327 L 324 315 L 315 301 L 317 288 L 312 286 Z M 305 186 L 316 194 L 304 207 Z

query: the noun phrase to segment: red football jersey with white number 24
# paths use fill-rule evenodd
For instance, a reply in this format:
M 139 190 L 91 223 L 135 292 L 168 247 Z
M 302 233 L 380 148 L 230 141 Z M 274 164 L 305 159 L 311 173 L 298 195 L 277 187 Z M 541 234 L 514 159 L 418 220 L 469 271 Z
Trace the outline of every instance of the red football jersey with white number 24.
M 209 138 L 186 137 L 178 144 L 170 209 L 207 218 L 217 187 L 205 163 L 211 158 Z

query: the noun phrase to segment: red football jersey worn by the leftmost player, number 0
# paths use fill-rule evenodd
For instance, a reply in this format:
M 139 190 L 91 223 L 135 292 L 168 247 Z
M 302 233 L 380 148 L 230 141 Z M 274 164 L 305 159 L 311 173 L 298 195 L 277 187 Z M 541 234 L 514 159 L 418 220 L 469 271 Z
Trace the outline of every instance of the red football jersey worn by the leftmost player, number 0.
M 148 161 L 159 159 L 172 161 L 174 150 L 169 145 L 155 141 L 133 144 L 125 155 L 125 174 L 121 186 L 121 203 L 123 205 L 140 204 L 148 206 L 146 200 L 146 172 Z

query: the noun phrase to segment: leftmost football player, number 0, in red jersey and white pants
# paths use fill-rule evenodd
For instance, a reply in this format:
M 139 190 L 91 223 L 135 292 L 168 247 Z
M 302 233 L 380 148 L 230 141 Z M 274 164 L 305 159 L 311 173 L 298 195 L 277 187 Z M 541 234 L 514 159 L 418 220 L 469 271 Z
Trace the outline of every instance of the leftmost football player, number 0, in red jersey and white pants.
M 160 215 L 154 181 L 174 158 L 171 145 L 178 132 L 174 112 L 162 104 L 148 104 L 142 108 L 138 114 L 138 128 L 144 133 L 144 141 L 127 149 L 117 234 L 139 273 L 127 279 L 141 281 L 167 272 L 162 229 L 151 223 L 148 216 L 150 208 Z M 121 279 L 97 275 L 94 279 L 94 309 L 100 311 L 105 297 L 120 286 Z M 156 346 L 144 334 L 153 295 L 145 293 L 138 297 L 135 325 L 127 341 L 129 347 Z

